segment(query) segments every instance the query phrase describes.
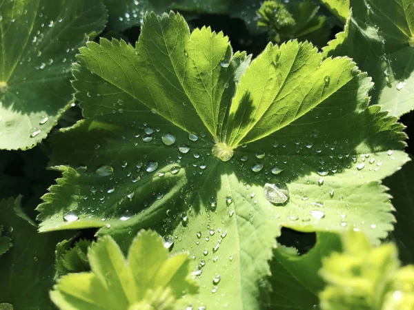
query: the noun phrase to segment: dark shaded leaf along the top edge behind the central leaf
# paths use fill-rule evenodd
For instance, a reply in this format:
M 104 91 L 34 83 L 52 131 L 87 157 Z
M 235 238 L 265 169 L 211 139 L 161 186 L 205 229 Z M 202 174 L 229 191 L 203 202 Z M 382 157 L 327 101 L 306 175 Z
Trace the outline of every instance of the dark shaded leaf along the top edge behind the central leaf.
M 104 0 L 108 8 L 108 29 L 124 31 L 134 25 L 141 25 L 147 12 L 162 14 L 170 10 L 194 13 L 229 14 L 231 17 L 243 19 L 250 32 L 258 32 L 257 10 L 261 3 L 254 0 Z

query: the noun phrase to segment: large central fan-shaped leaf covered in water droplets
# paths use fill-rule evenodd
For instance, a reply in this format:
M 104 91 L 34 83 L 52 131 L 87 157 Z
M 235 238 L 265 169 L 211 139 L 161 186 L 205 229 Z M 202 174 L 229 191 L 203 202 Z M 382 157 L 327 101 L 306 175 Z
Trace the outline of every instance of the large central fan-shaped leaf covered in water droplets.
M 249 66 L 171 13 L 148 15 L 135 49 L 102 39 L 78 60 L 85 119 L 52 138 L 63 178 L 38 207 L 41 231 L 102 227 L 126 250 L 154 227 L 199 261 L 200 303 L 257 309 L 280 227 L 376 243 L 392 229 L 380 180 L 407 161 L 405 135 L 368 107 L 371 81 L 350 59 L 291 41 Z

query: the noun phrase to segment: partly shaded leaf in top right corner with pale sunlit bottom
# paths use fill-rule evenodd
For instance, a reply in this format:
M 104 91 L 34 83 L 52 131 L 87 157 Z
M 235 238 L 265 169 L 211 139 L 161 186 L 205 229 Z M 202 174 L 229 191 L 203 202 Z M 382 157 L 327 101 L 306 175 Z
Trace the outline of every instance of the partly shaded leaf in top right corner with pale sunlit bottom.
M 375 82 L 372 102 L 401 116 L 413 110 L 414 5 L 409 0 L 350 1 L 346 30 L 324 48 L 352 57 Z

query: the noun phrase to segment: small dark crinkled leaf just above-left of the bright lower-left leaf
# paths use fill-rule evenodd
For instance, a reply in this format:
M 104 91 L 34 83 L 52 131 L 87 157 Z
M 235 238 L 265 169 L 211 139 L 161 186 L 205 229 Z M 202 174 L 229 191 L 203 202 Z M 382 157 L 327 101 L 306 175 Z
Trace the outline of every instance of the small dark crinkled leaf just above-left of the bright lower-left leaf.
M 63 240 L 56 246 L 56 269 L 59 276 L 70 272 L 90 271 L 88 249 L 91 242 L 79 240 L 73 247 L 72 240 Z

